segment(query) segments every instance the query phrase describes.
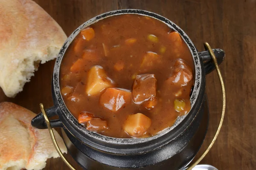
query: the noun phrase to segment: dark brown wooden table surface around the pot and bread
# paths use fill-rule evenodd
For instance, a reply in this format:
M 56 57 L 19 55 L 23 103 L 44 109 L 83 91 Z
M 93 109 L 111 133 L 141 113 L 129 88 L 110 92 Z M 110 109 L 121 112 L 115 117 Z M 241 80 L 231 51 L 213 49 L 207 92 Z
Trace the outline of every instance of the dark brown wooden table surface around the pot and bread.
M 256 0 L 35 0 L 69 36 L 82 23 L 106 11 L 138 8 L 172 20 L 190 37 L 199 51 L 207 41 L 221 48 L 226 59 L 221 71 L 227 88 L 227 109 L 221 132 L 202 164 L 219 170 L 256 168 Z M 0 90 L 0 102 L 11 101 L 39 113 L 39 103 L 52 106 L 51 78 L 54 61 L 39 67 L 14 99 Z M 218 126 L 221 87 L 216 72 L 207 75 L 209 130 L 200 153 Z M 81 169 L 66 155 L 71 164 Z M 58 159 L 47 160 L 45 170 L 68 170 Z

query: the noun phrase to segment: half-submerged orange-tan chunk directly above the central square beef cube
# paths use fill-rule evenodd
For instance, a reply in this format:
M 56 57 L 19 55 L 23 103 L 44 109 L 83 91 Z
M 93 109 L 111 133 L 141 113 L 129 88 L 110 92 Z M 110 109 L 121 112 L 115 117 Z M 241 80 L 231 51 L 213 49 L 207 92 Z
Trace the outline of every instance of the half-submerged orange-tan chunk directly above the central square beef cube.
M 141 68 L 151 68 L 156 62 L 160 60 L 160 56 L 154 52 L 146 52 L 141 62 Z

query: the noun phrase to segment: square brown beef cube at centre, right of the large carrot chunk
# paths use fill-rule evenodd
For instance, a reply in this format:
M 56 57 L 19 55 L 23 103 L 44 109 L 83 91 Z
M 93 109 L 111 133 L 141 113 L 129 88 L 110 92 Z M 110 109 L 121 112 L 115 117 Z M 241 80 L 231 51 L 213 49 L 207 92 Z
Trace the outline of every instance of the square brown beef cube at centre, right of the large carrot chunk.
M 134 80 L 132 98 L 134 103 L 142 104 L 148 100 L 155 100 L 157 79 L 154 74 L 137 75 Z

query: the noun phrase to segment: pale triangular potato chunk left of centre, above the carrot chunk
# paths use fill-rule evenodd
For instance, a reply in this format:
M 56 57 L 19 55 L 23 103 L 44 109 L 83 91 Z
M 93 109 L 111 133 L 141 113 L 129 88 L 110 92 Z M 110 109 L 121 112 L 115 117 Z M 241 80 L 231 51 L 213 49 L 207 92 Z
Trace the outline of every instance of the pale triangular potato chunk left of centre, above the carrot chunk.
M 105 70 L 99 66 L 93 66 L 88 73 L 86 94 L 88 96 L 99 94 L 105 88 L 114 86 L 114 82 L 107 76 Z

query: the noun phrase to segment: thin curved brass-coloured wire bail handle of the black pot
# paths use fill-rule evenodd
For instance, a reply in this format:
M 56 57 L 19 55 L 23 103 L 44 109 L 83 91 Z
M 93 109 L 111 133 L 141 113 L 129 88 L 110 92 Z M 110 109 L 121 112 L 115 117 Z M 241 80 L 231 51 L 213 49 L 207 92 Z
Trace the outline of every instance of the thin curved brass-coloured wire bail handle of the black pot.
M 223 97 L 223 104 L 222 104 L 222 112 L 221 112 L 221 118 L 220 118 L 220 121 L 219 121 L 219 124 L 218 124 L 218 128 L 215 132 L 215 135 L 212 139 L 212 142 L 209 144 L 209 146 L 207 147 L 207 149 L 204 151 L 204 153 L 195 161 L 195 163 L 193 163 L 192 165 L 190 165 L 187 170 L 192 170 L 193 167 L 195 167 L 195 165 L 197 165 L 205 156 L 206 154 L 209 152 L 209 150 L 211 149 L 212 145 L 214 144 L 215 140 L 217 139 L 217 136 L 221 130 L 221 126 L 222 126 L 222 123 L 223 123 L 223 119 L 224 119 L 224 114 L 225 114 L 225 109 L 226 109 L 226 91 L 225 91 L 225 85 L 224 85 L 224 81 L 223 81 L 223 78 L 221 76 L 221 71 L 219 69 L 219 66 L 218 66 L 218 62 L 217 62 L 217 59 L 215 57 L 215 54 L 213 53 L 212 51 L 212 48 L 210 47 L 210 45 L 207 43 L 207 42 L 204 42 L 204 48 L 206 50 L 209 51 L 209 54 L 210 56 L 212 57 L 212 60 L 214 62 L 214 65 L 215 65 L 215 68 L 216 68 L 216 71 L 218 73 L 218 77 L 220 79 L 220 82 L 221 82 L 221 90 L 222 90 L 222 97 Z M 57 142 L 56 142 L 56 139 L 55 139 L 55 136 L 54 136 L 54 133 L 53 133 L 53 130 L 52 130 L 52 126 L 50 124 L 50 121 L 49 121 L 49 118 L 44 110 L 44 105 L 41 103 L 40 104 L 40 108 L 41 108 L 41 111 L 44 115 L 44 119 L 45 119 L 45 122 L 47 124 L 47 127 L 48 127 L 48 130 L 49 130 L 49 133 L 50 133 L 50 136 L 52 138 L 52 142 L 58 152 L 58 154 L 60 155 L 61 159 L 65 162 L 65 164 L 67 164 L 67 166 L 71 169 L 71 170 L 76 170 L 70 163 L 69 161 L 67 161 L 67 159 L 64 157 L 63 153 L 61 152 L 61 149 L 59 148 Z

